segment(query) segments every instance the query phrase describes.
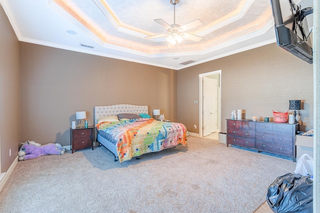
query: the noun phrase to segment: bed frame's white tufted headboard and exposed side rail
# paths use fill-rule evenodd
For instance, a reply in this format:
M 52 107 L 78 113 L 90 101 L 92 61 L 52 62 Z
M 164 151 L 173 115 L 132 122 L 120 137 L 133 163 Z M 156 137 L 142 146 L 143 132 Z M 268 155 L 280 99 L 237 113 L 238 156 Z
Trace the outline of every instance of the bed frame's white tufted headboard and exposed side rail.
M 117 115 L 120 113 L 132 113 L 132 114 L 148 114 L 148 106 L 139 106 L 139 105 L 131 105 L 131 104 L 116 104 L 110 106 L 95 106 L 93 108 L 93 119 L 94 125 L 97 124 L 98 118 L 108 115 Z M 101 135 L 97 134 L 96 142 L 104 146 L 107 150 L 109 150 L 113 156 L 114 161 L 117 160 L 117 151 L 115 147 L 115 142 L 111 142 Z

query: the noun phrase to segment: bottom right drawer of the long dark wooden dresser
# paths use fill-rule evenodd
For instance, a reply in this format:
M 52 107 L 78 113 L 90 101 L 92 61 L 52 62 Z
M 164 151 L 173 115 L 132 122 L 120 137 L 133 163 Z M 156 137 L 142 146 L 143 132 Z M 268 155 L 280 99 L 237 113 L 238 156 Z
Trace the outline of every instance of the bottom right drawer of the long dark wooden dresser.
M 266 141 L 255 141 L 255 148 L 279 155 L 292 156 L 292 145 L 272 143 Z

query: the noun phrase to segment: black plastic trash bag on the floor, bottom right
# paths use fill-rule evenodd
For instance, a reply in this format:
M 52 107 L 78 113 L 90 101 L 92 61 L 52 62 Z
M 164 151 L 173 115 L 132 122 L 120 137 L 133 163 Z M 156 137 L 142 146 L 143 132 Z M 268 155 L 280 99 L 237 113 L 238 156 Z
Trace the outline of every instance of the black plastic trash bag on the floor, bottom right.
M 266 202 L 274 213 L 312 213 L 312 186 L 309 176 L 285 174 L 269 186 Z

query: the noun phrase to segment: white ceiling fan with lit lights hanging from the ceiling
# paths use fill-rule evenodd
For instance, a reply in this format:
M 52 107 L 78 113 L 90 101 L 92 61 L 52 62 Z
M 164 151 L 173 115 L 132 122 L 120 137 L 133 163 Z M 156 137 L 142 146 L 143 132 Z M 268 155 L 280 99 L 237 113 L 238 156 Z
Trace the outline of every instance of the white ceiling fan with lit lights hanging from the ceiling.
M 147 36 L 147 37 L 144 37 L 145 39 L 166 37 L 166 40 L 170 44 L 177 44 L 180 41 L 182 41 L 183 38 L 186 38 L 186 39 L 189 39 L 192 41 L 196 41 L 196 42 L 201 40 L 202 37 L 185 32 L 188 29 L 191 29 L 193 27 L 201 25 L 202 21 L 200 21 L 199 19 L 195 19 L 195 20 L 193 20 L 187 24 L 184 24 L 182 26 L 175 23 L 175 4 L 177 4 L 178 2 L 179 2 L 179 0 L 170 0 L 170 3 L 173 4 L 173 9 L 174 9 L 173 10 L 173 24 L 169 25 L 161 18 L 154 19 L 155 22 L 157 22 L 158 24 L 160 24 L 161 26 L 166 28 L 167 32 L 157 34 L 157 35 Z

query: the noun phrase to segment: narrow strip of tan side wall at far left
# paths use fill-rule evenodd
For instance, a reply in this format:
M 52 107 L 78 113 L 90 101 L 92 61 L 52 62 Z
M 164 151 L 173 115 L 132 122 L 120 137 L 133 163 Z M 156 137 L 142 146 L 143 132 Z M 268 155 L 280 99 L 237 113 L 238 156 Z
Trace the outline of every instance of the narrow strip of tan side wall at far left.
M 0 5 L 0 150 L 1 173 L 19 148 L 19 42 Z M 9 157 L 9 149 L 11 156 Z

